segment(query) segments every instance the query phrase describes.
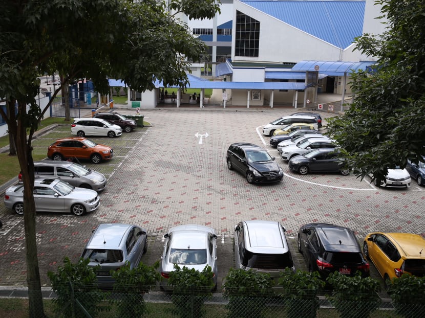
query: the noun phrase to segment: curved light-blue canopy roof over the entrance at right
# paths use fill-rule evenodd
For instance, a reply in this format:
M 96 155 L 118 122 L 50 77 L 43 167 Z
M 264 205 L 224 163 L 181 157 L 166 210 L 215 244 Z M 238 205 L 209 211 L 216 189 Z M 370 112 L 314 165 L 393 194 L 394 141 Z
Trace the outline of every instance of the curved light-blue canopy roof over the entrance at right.
M 293 71 L 319 71 L 320 73 L 330 76 L 343 76 L 357 71 L 365 71 L 368 66 L 375 64 L 373 61 L 360 61 L 360 62 L 335 62 L 335 61 L 301 61 L 296 63 Z M 318 69 L 317 67 L 318 66 Z

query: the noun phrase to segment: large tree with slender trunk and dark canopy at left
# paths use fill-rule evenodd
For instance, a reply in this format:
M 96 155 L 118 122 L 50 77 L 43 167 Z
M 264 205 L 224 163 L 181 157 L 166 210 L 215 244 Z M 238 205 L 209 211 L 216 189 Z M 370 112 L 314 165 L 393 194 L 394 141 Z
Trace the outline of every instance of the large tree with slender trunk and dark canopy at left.
M 173 1 L 177 11 L 211 18 L 213 0 Z M 198 61 L 205 44 L 155 0 L 5 0 L 0 18 L 0 108 L 13 136 L 24 183 L 24 222 L 30 317 L 44 316 L 35 240 L 34 165 L 31 140 L 45 109 L 35 101 L 40 74 L 59 72 L 62 84 L 80 78 L 108 92 L 107 77 L 132 89 L 154 88 L 153 80 L 185 87 L 187 61 Z M 15 112 L 15 105 L 17 110 Z

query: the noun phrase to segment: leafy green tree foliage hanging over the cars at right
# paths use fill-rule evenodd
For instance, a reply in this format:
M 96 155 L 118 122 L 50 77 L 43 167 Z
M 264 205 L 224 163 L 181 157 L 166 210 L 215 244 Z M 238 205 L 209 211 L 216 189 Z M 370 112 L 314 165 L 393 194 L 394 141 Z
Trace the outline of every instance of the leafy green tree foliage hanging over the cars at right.
M 387 16 L 381 36 L 364 34 L 356 49 L 377 57 L 372 72 L 353 74 L 353 103 L 329 121 L 329 133 L 345 149 L 362 178 L 384 179 L 388 169 L 418 163 L 425 155 L 425 4 L 379 0 Z

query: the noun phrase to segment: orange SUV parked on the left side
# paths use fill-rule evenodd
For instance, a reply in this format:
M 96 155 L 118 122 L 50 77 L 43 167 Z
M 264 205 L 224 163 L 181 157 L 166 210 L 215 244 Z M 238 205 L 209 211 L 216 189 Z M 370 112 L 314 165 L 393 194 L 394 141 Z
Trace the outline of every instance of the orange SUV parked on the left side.
M 111 159 L 114 151 L 111 147 L 96 144 L 84 137 L 69 137 L 56 140 L 49 146 L 47 156 L 51 160 L 68 160 L 77 158 L 90 160 L 98 164 L 103 160 Z

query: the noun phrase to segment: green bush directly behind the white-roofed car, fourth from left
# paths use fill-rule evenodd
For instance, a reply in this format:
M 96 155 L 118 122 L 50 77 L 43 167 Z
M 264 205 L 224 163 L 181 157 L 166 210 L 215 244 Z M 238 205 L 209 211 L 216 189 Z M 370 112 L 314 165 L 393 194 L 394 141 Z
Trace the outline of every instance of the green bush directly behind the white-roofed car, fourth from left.
M 227 304 L 228 317 L 251 318 L 261 317 L 263 309 L 270 297 L 274 281 L 270 274 L 244 269 L 230 268 L 224 278 L 224 296 Z

